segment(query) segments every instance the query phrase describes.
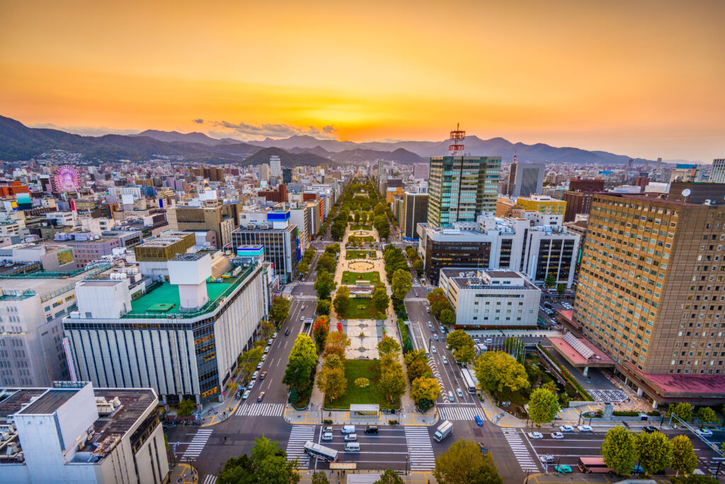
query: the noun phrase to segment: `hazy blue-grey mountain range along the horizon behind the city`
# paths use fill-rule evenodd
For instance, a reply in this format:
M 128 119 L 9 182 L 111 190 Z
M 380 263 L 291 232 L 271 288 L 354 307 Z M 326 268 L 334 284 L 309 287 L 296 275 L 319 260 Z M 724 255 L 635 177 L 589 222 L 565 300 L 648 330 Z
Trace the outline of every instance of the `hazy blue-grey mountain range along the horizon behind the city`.
M 465 138 L 465 153 L 473 156 L 500 156 L 521 162 L 624 164 L 626 155 L 604 151 L 587 151 L 548 144 L 511 143 L 503 138 Z M 17 120 L 0 116 L 0 160 L 28 160 L 43 152 L 62 150 L 83 153 L 89 160 L 149 160 L 154 157 L 183 156 L 204 163 L 265 163 L 270 155 L 281 157 L 284 166 L 319 165 L 320 163 L 358 164 L 375 160 L 398 163 L 426 163 L 428 157 L 445 155 L 448 141 L 373 141 L 356 143 L 314 136 L 267 138 L 262 141 L 216 139 L 203 133 L 146 130 L 139 134 L 80 136 L 47 128 L 28 128 Z M 651 160 L 635 158 L 635 163 Z

